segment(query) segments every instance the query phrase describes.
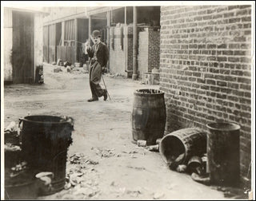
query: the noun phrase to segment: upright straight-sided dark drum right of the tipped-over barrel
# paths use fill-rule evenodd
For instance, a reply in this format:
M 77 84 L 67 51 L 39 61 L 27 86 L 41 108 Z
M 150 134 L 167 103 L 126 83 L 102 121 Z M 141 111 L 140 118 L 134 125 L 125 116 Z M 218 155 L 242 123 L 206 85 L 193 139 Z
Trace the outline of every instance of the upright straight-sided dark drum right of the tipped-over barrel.
M 239 130 L 233 123 L 206 125 L 207 169 L 211 183 L 236 186 L 239 182 Z

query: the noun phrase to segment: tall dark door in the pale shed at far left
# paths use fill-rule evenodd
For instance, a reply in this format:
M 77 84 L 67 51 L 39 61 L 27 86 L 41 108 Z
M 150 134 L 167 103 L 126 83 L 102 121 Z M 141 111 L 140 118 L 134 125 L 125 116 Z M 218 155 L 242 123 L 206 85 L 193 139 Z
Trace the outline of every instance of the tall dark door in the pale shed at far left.
M 34 81 L 34 14 L 13 11 L 13 81 Z

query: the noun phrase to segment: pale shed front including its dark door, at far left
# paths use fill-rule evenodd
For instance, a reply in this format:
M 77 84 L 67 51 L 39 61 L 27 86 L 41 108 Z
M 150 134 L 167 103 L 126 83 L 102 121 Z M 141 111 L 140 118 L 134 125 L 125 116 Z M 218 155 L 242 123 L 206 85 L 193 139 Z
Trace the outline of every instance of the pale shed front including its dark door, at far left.
M 4 81 L 28 84 L 42 65 L 41 10 L 4 9 Z

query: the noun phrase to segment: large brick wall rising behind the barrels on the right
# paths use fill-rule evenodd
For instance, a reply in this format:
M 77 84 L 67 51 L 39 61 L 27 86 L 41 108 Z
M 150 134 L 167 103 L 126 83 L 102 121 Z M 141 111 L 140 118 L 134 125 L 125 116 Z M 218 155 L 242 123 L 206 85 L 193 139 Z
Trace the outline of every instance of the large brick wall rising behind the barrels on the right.
M 160 38 L 166 133 L 240 124 L 243 180 L 251 150 L 251 7 L 162 6 Z

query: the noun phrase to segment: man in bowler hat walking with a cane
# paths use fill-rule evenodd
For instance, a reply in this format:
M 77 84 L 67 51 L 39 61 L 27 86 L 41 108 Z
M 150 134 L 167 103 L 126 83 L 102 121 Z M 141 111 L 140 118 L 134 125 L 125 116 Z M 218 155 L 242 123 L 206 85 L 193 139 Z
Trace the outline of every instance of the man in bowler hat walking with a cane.
M 92 37 L 94 39 L 94 45 L 90 47 L 88 42 L 86 43 L 86 50 L 90 57 L 89 77 L 92 94 L 88 102 L 98 101 L 98 97 L 104 97 L 104 101 L 106 101 L 107 91 L 106 89 L 102 89 L 99 83 L 102 79 L 102 73 L 106 72 L 106 64 L 109 60 L 109 49 L 101 41 L 101 33 L 98 30 L 93 31 Z

